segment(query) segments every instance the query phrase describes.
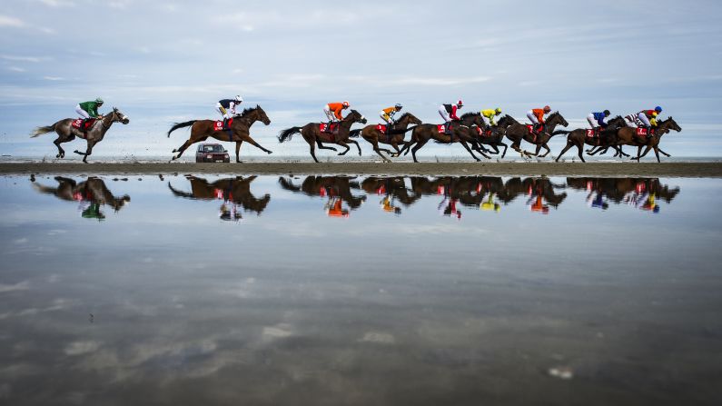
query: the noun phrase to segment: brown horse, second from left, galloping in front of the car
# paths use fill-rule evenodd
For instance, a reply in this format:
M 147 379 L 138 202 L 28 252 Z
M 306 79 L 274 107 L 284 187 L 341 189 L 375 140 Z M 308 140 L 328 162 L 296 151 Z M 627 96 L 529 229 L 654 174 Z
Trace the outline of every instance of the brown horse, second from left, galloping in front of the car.
M 241 144 L 243 143 L 243 141 L 246 141 L 257 148 L 260 148 L 264 153 L 272 153 L 271 151 L 263 148 L 260 144 L 256 143 L 255 140 L 251 138 L 251 126 L 257 121 L 260 121 L 266 125 L 271 124 L 271 120 L 268 118 L 268 115 L 266 115 L 266 112 L 264 112 L 261 106 L 259 106 L 258 104 L 256 104 L 255 107 L 250 107 L 243 110 L 242 114 L 238 114 L 233 117 L 231 128 L 229 128 L 228 130 L 215 131 L 215 120 L 191 120 L 185 123 L 176 123 L 173 125 L 173 127 L 171 127 L 170 130 L 168 130 L 168 137 L 171 136 L 171 133 L 173 133 L 173 131 L 188 126 L 191 126 L 191 137 L 188 138 L 188 141 L 183 143 L 180 148 L 173 150 L 173 153 L 178 154 L 173 155 L 172 161 L 180 158 L 181 155 L 183 155 L 183 151 L 185 151 L 189 146 L 201 141 L 205 141 L 208 139 L 208 137 L 213 137 L 219 141 L 228 141 L 231 143 L 234 142 L 235 162 L 237 163 L 241 162 L 239 153 L 241 153 Z

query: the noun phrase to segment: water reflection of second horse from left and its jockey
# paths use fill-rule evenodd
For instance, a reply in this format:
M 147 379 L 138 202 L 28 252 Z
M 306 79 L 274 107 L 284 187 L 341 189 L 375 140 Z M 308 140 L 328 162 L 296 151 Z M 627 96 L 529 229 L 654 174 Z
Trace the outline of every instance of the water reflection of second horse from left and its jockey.
M 251 192 L 251 183 L 257 177 L 236 176 L 209 182 L 198 176 L 187 175 L 185 178 L 191 183 L 191 192 L 177 189 L 170 182 L 168 182 L 168 188 L 176 197 L 223 201 L 219 208 L 221 220 L 239 221 L 242 219 L 242 212 L 261 215 L 271 201 L 271 194 L 269 193 L 264 194 L 262 198 L 257 198 Z

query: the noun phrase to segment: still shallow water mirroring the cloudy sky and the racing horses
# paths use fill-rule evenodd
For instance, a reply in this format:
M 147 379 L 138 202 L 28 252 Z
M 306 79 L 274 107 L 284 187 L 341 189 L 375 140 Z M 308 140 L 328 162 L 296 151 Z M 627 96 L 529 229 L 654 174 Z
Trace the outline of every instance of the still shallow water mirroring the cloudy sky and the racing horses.
M 720 198 L 718 179 L 6 176 L 0 401 L 718 404 Z

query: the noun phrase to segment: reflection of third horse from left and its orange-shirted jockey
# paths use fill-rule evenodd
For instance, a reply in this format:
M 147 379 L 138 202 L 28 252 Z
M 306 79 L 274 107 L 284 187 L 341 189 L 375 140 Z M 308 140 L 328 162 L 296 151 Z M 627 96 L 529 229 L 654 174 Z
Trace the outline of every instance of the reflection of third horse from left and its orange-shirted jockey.
M 351 192 L 351 189 L 361 189 L 355 177 L 306 176 L 301 185 L 294 181 L 295 179 L 290 176 L 278 178 L 278 183 L 283 190 L 328 198 L 323 205 L 323 210 L 329 217 L 348 217 L 352 210 L 358 209 L 366 201 L 365 195 Z M 346 205 L 344 206 L 343 203 Z

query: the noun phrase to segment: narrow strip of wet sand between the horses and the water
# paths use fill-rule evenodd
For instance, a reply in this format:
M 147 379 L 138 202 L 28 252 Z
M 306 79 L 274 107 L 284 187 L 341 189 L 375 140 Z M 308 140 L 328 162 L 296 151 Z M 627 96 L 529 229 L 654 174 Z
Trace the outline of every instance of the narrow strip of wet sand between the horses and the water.
M 0 173 L 722 177 L 722 163 L 0 163 Z

